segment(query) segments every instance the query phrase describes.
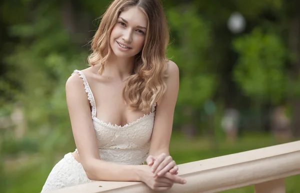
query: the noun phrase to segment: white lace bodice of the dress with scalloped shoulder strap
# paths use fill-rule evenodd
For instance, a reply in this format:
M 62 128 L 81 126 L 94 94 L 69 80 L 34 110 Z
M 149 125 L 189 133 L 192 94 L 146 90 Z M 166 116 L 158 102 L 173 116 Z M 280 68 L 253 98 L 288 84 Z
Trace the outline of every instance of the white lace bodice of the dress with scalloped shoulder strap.
M 148 114 L 123 126 L 106 123 L 98 119 L 96 104 L 87 79 L 82 71 L 74 70 L 83 79 L 85 92 L 91 106 L 91 117 L 94 125 L 100 159 L 119 164 L 142 164 L 144 163 L 150 147 L 155 104 Z M 77 149 L 76 149 L 77 150 Z

